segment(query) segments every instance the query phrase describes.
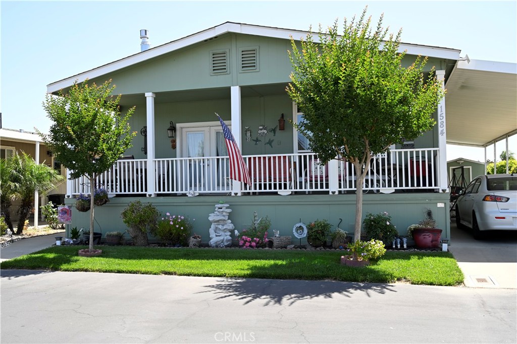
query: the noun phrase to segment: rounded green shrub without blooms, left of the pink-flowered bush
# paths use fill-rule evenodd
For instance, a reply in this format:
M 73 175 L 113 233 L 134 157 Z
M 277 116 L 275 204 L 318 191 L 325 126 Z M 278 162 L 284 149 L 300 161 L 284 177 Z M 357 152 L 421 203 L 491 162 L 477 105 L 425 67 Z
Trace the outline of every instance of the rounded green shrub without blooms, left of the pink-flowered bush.
M 152 203 L 130 202 L 122 211 L 122 221 L 128 226 L 127 232 L 136 246 L 147 246 L 147 232 L 155 233 L 160 213 Z

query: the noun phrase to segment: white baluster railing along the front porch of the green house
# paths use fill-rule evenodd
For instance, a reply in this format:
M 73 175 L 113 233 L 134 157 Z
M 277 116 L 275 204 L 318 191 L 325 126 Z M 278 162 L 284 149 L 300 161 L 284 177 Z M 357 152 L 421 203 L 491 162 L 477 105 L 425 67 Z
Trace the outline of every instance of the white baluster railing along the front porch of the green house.
M 438 149 L 392 150 L 372 158 L 363 182 L 364 192 L 438 189 Z M 356 173 L 349 162 L 332 160 L 323 165 L 314 153 L 253 155 L 244 157 L 252 186 L 245 193 L 329 192 L 356 190 Z M 119 160 L 96 181 L 108 193 L 147 195 L 145 159 Z M 155 159 L 153 171 L 157 195 L 232 192 L 228 157 Z M 71 195 L 89 193 L 85 178 L 71 183 Z

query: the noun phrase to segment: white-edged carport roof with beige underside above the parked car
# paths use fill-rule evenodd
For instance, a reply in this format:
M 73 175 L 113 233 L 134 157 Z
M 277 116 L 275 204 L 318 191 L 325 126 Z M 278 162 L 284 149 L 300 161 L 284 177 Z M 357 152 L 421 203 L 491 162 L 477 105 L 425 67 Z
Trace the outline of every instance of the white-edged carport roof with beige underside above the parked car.
M 517 133 L 517 64 L 458 61 L 447 80 L 447 143 L 489 145 Z

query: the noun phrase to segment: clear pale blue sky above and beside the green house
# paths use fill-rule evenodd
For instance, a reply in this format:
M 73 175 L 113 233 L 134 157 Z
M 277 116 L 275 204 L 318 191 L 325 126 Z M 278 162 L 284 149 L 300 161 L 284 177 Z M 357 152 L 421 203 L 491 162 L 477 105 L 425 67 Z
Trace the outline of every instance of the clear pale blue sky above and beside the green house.
M 456 48 L 471 59 L 517 62 L 515 1 L 2 1 L 2 124 L 46 132 L 50 121 L 41 106 L 46 86 L 138 53 L 140 29 L 148 29 L 157 46 L 226 21 L 299 30 L 328 26 L 359 15 L 365 5 L 375 22 L 384 12 L 385 26 L 393 32 L 402 27 L 403 42 Z M 516 152 L 514 139 L 510 150 Z M 497 145 L 497 151 L 503 149 Z M 482 149 L 468 149 L 469 156 L 465 148 L 451 150 L 448 159 L 484 159 Z

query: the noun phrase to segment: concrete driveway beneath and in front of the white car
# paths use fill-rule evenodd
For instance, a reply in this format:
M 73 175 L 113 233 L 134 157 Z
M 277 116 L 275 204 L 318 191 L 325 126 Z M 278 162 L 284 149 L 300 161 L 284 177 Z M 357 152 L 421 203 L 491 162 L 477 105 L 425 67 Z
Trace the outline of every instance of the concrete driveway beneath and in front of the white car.
M 465 274 L 465 286 L 517 288 L 517 231 L 494 231 L 475 240 L 468 229 L 451 223 L 449 251 Z

